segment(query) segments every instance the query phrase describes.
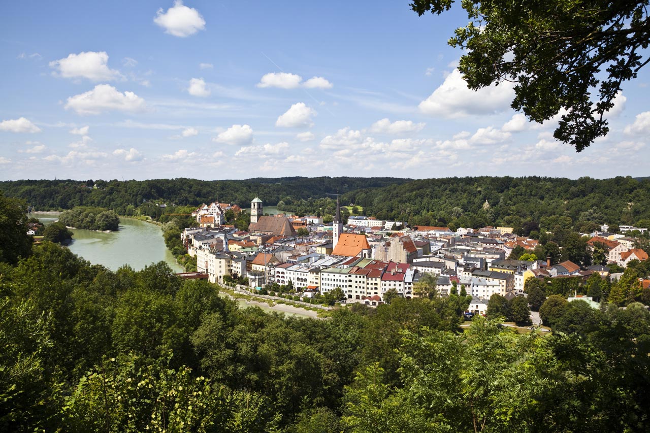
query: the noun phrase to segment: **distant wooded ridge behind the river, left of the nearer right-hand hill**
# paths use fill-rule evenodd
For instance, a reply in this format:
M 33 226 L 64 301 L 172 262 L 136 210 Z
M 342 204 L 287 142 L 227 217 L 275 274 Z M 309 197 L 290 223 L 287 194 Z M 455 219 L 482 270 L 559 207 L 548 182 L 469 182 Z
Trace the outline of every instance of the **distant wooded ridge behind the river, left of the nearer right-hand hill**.
M 129 205 L 145 202 L 199 205 L 220 200 L 248 207 L 259 196 L 266 205 L 281 200 L 325 198 L 328 193 L 350 192 L 362 187 L 385 187 L 411 179 L 393 177 L 280 177 L 246 180 L 201 181 L 197 179 L 153 179 L 118 181 L 113 179 L 75 181 L 18 180 L 0 182 L 7 196 L 23 198 L 36 209 L 72 209 L 76 206 L 98 206 L 123 211 Z

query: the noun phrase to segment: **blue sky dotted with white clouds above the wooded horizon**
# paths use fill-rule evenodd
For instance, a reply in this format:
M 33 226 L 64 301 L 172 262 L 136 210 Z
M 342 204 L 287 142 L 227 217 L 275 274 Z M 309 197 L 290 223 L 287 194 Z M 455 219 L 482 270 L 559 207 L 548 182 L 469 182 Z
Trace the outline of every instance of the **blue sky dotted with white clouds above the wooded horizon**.
M 650 73 L 577 153 L 473 92 L 409 1 L 64 1 L 0 14 L 0 180 L 648 176 Z

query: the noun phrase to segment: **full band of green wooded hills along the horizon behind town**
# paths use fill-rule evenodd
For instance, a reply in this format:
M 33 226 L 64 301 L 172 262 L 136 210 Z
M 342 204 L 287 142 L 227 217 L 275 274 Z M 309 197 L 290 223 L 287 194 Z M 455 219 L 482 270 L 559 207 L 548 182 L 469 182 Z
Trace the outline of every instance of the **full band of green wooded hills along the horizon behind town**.
M 196 206 L 214 200 L 242 209 L 259 196 L 299 215 L 331 216 L 341 202 L 358 205 L 363 214 L 413 225 L 480 228 L 512 226 L 533 230 L 588 231 L 607 223 L 650 226 L 650 179 L 566 179 L 560 177 L 283 177 L 200 181 L 21 180 L 0 182 L 6 196 L 21 198 L 38 210 L 76 206 L 112 209 L 119 215 L 159 218 L 170 213 L 159 204 Z

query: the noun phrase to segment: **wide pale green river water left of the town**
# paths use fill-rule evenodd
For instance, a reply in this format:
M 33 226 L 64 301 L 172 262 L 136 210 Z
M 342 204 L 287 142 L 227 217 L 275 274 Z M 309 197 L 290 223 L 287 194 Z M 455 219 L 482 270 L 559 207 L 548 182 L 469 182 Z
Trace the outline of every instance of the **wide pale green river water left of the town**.
M 30 217 L 40 219 L 44 224 L 57 220 L 56 215 L 49 213 L 32 213 Z M 183 272 L 167 249 L 162 239 L 161 228 L 155 224 L 120 218 L 120 230 L 104 233 L 103 231 L 72 229 L 70 251 L 83 257 L 90 263 L 104 265 L 108 269 L 118 270 L 123 265 L 129 265 L 140 270 L 164 261 L 174 272 Z

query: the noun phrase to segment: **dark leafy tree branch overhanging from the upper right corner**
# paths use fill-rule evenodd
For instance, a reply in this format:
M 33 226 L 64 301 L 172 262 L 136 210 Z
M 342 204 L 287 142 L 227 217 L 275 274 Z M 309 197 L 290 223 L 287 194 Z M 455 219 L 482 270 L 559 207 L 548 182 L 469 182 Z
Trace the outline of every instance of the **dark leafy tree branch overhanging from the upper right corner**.
M 413 0 L 411 7 L 419 15 L 440 14 L 452 3 Z M 615 7 L 602 0 L 461 5 L 470 23 L 456 29 L 448 44 L 463 49 L 458 69 L 469 88 L 517 83 L 513 109 L 539 123 L 565 110 L 554 137 L 577 151 L 608 133 L 604 116 L 621 84 L 647 63 L 647 1 Z

